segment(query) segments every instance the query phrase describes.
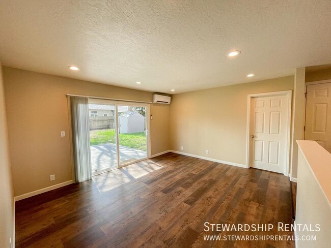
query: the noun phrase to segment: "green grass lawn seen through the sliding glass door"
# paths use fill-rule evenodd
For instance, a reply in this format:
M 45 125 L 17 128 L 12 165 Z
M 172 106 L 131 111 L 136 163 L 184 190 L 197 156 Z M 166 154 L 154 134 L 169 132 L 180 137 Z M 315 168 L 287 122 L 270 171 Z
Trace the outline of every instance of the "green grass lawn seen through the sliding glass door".
M 90 145 L 99 145 L 105 143 L 116 143 L 114 129 L 90 131 Z M 145 132 L 120 134 L 120 145 L 146 151 L 147 147 Z

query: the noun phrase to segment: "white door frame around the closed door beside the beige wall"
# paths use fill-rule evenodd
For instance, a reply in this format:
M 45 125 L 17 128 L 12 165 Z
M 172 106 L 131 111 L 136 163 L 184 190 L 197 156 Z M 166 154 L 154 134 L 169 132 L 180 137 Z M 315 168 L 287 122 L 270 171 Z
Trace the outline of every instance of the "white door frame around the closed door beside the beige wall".
M 292 109 L 292 90 L 273 91 L 258 94 L 247 95 L 247 128 L 246 128 L 246 167 L 250 168 L 250 118 L 251 118 L 251 102 L 253 98 L 257 97 L 274 97 L 286 96 L 288 99 L 288 116 L 287 116 L 287 147 L 286 147 L 286 166 L 285 176 L 289 175 L 290 164 L 290 136 L 291 136 L 291 109 Z

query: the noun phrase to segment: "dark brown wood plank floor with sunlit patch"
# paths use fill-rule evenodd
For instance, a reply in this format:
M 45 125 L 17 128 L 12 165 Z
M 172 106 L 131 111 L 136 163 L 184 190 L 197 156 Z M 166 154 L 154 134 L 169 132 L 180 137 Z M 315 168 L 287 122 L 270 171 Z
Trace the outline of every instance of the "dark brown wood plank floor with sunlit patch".
M 16 247 L 294 247 L 294 241 L 205 241 L 204 223 L 292 223 L 277 173 L 167 153 L 16 202 Z

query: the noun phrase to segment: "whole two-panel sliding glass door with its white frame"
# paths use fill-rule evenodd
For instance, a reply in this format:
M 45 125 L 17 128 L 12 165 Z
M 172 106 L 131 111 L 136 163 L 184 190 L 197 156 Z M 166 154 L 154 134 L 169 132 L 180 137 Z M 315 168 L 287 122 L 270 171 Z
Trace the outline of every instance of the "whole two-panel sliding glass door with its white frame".
M 148 158 L 146 116 L 149 105 L 89 100 L 93 175 Z

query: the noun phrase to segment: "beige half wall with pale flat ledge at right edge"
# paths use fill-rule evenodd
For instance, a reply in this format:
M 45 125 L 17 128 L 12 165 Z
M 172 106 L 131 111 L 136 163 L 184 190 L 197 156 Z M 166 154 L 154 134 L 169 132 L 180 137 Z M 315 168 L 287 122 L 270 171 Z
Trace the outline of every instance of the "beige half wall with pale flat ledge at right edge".
M 316 141 L 297 140 L 295 246 L 330 247 L 331 153 Z M 316 240 L 312 239 L 316 236 Z M 304 240 L 305 239 L 305 240 Z

